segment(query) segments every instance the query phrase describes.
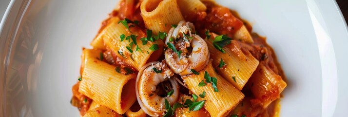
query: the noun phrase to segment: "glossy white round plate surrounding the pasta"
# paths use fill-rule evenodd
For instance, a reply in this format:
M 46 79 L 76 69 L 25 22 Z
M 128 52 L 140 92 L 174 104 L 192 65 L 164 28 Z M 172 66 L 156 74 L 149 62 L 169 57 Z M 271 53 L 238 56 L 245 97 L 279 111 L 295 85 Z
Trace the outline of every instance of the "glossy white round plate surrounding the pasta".
M 218 0 L 267 37 L 288 78 L 281 117 L 348 115 L 347 24 L 334 0 Z M 0 24 L 0 114 L 78 117 L 81 47 L 117 0 L 12 0 Z

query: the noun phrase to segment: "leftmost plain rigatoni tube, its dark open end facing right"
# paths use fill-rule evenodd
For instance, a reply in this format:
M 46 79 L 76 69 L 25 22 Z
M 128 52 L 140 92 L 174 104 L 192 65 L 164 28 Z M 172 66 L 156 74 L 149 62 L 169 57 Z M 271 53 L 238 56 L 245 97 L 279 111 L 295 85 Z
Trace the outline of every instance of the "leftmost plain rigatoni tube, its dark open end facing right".
M 84 67 L 78 92 L 124 114 L 135 102 L 135 74 L 115 72 L 114 66 L 97 59 L 99 53 L 83 50 Z

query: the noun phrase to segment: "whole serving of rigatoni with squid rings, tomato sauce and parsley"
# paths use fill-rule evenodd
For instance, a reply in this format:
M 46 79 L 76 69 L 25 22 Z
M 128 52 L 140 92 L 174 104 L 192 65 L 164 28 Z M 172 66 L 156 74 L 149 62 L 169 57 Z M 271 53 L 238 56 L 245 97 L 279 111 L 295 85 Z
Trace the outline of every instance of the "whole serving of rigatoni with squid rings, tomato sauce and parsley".
M 121 0 L 83 48 L 83 117 L 271 117 L 285 76 L 266 39 L 211 0 Z

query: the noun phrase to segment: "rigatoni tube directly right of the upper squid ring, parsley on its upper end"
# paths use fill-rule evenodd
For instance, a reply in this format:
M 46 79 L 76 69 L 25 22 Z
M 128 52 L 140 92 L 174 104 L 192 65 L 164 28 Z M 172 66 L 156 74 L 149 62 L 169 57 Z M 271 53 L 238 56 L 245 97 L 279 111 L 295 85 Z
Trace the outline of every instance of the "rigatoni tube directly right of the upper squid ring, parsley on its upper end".
M 216 49 L 212 40 L 206 39 L 206 42 L 211 59 L 213 59 L 213 66 L 217 67 L 216 70 L 221 76 L 230 81 L 237 89 L 242 90 L 256 70 L 259 61 L 249 51 L 243 51 L 235 40 L 225 46 L 225 53 Z

